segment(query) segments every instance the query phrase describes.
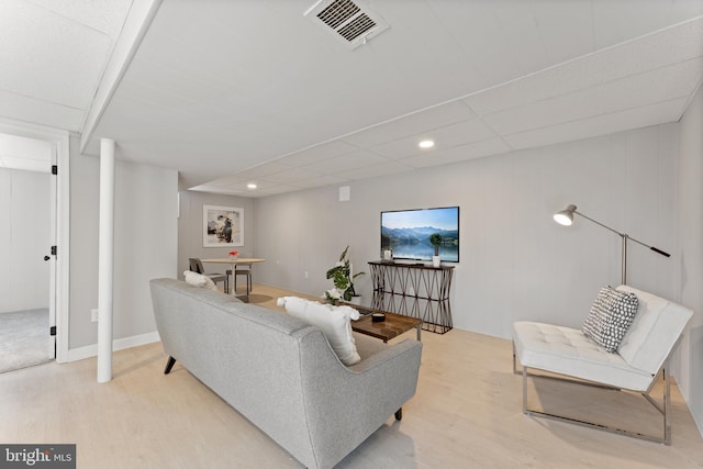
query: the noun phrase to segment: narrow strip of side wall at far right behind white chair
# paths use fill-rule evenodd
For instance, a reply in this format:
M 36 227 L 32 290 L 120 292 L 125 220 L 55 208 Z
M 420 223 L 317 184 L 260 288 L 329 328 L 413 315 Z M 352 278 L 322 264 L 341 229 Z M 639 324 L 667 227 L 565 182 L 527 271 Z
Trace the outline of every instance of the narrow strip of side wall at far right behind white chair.
M 694 310 L 679 346 L 679 389 L 703 434 L 703 91 L 681 120 L 678 185 L 678 300 Z

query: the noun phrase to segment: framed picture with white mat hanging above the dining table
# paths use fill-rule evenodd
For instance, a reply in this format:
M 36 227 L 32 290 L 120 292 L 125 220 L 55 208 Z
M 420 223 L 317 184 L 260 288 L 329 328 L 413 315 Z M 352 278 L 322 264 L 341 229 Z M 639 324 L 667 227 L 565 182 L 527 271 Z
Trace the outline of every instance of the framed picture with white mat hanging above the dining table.
M 244 246 L 244 209 L 202 205 L 203 247 Z

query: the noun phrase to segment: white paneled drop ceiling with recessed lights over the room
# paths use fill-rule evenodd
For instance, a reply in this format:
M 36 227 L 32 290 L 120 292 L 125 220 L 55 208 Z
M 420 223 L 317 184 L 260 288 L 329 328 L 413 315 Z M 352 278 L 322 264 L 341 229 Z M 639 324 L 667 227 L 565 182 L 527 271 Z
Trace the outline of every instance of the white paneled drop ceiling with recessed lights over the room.
M 358 1 L 388 29 L 356 47 L 305 16 L 315 0 L 147 1 L 126 56 L 112 51 L 145 2 L 115 0 L 115 47 L 83 27 L 94 8 L 76 31 L 56 13 L 93 2 L 5 1 L 42 40 L 0 27 L 15 67 L 1 116 L 78 132 L 87 154 L 113 138 L 183 189 L 245 197 L 677 122 L 703 77 L 703 0 Z

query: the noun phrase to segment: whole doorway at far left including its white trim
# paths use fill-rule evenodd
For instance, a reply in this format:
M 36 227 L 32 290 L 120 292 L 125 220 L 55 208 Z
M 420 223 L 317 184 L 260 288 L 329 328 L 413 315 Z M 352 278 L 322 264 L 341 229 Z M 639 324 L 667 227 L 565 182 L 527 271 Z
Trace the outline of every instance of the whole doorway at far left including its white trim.
M 67 356 L 68 144 L 67 132 L 0 121 L 0 372 Z

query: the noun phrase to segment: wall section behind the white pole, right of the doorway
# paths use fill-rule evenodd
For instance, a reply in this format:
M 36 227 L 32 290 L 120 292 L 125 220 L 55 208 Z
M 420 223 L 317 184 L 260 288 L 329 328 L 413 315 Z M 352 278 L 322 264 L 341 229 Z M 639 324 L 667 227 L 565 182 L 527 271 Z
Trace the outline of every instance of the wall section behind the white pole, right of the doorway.
M 78 147 L 74 139 L 71 149 Z M 90 321 L 90 310 L 98 306 L 99 168 L 98 157 L 71 154 L 69 353 L 94 346 L 98 340 L 98 323 Z M 177 171 L 122 161 L 118 143 L 115 339 L 156 332 L 148 281 L 176 277 L 177 192 Z

